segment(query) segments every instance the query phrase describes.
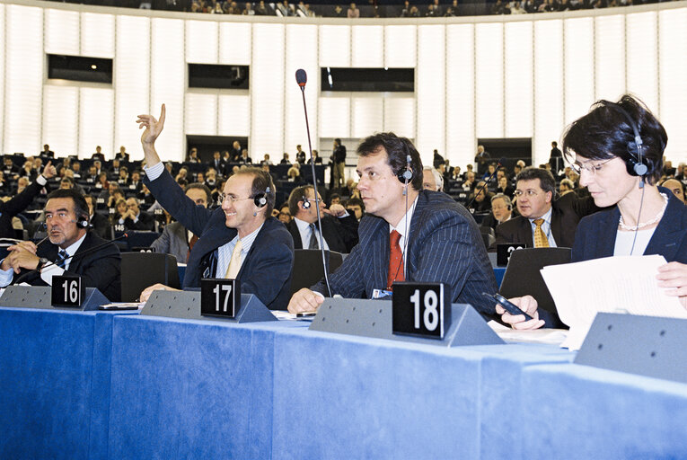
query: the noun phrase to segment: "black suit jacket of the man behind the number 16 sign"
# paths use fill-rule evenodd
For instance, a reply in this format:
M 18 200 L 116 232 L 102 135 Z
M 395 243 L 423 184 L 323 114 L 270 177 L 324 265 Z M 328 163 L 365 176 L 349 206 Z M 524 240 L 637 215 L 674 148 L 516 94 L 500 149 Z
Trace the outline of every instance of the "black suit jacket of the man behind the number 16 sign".
M 119 302 L 121 299 L 121 256 L 119 248 L 115 243 L 109 243 L 95 252 L 89 252 L 83 257 L 79 254 L 105 243 L 97 234 L 88 232 L 75 253 L 75 257 L 69 262 L 69 270 L 65 275 L 79 275 L 86 288 L 98 288 L 101 293 L 112 302 Z M 40 244 L 36 255 L 45 257 L 48 261 L 57 260 L 59 248 L 56 244 L 49 241 Z M 22 270 L 17 277 L 29 270 Z M 26 280 L 32 286 L 47 286 L 46 282 L 40 278 L 40 273 L 31 274 Z

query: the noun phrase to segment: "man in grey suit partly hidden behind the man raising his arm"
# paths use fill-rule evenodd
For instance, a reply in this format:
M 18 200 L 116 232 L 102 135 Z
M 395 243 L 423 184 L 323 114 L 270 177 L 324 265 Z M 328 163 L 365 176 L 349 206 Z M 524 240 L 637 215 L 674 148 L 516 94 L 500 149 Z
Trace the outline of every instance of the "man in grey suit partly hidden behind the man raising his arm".
M 202 183 L 189 184 L 184 192 L 196 203 L 196 206 L 207 208 L 207 205 L 212 202 L 210 190 Z M 172 222 L 164 226 L 163 234 L 151 244 L 151 247 L 155 252 L 172 254 L 178 263 L 186 263 L 197 241 L 198 235 L 189 232 L 185 226 L 181 225 L 181 222 Z

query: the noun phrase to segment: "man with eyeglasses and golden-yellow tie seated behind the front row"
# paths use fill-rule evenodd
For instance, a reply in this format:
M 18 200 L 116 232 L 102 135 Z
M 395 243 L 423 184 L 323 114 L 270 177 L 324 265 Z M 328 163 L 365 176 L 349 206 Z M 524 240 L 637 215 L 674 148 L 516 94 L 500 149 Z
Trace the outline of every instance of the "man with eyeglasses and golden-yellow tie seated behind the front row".
M 519 217 L 497 226 L 497 243 L 524 243 L 527 247 L 572 247 L 579 219 L 596 208 L 589 199 L 554 200 L 553 175 L 533 166 L 517 175 L 515 205 Z

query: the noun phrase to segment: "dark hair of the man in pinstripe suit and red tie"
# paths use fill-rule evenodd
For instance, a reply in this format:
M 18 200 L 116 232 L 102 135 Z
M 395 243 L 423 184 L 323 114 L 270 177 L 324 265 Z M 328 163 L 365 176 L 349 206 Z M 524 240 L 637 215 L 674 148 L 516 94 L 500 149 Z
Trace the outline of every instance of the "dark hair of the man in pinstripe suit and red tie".
M 366 137 L 363 142 L 357 146 L 357 155 L 368 156 L 379 152 L 383 147 L 388 156 L 386 164 L 392 167 L 393 175 L 398 176 L 406 169 L 408 164 L 407 157 L 410 155 L 410 170 L 413 173 L 410 185 L 415 190 L 422 190 L 422 160 L 420 159 L 418 150 L 412 145 L 410 139 L 407 137 L 398 137 L 395 134 L 377 133 Z

